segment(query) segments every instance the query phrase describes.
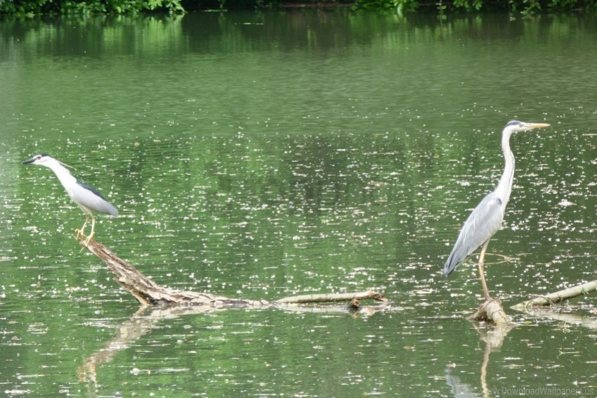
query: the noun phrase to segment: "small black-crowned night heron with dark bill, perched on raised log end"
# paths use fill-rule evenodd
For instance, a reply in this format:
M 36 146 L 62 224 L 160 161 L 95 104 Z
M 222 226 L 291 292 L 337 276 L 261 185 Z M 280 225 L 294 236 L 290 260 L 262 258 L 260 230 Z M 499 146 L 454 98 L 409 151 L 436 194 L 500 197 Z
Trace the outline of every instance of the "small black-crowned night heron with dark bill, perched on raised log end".
M 112 206 L 101 193 L 74 178 L 63 162 L 55 160 L 46 153 L 40 153 L 39 155 L 35 155 L 33 158 L 22 162 L 23 165 L 29 163 L 32 165 L 45 166 L 48 167 L 48 169 L 51 169 L 65 187 L 66 192 L 72 201 L 77 203 L 85 213 L 85 224 L 83 224 L 80 230 L 77 230 L 77 236 L 83 235 L 85 226 L 89 222 L 89 217 L 91 217 L 91 233 L 87 237 L 87 244 L 93 238 L 94 230 L 96 228 L 96 217 L 93 216 L 93 212 L 102 212 L 111 214 L 112 216 L 118 215 L 118 210 L 116 210 L 116 208 Z

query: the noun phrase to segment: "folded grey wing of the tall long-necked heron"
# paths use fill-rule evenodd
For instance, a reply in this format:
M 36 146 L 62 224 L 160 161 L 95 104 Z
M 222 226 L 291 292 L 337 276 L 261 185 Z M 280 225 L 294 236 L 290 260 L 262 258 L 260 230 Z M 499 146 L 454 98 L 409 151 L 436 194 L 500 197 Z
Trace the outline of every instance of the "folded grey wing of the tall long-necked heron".
M 443 274 L 450 275 L 458 264 L 489 240 L 499 229 L 502 219 L 504 219 L 503 202 L 492 192 L 481 200 L 464 222 L 454 249 L 444 265 Z

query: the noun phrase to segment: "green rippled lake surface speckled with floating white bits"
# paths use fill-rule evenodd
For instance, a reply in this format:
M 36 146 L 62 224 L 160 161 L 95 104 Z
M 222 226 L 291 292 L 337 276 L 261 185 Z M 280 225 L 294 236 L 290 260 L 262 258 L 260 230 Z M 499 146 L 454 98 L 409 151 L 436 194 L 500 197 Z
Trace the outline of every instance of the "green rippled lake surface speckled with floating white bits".
M 597 32 L 292 11 L 0 21 L 0 391 L 75 397 L 597 395 L 595 300 L 509 306 L 595 278 Z M 467 321 L 476 257 L 442 265 L 501 174 L 487 255 L 522 326 Z M 74 240 L 50 153 L 120 212 L 96 238 L 157 283 L 387 305 L 140 309 Z

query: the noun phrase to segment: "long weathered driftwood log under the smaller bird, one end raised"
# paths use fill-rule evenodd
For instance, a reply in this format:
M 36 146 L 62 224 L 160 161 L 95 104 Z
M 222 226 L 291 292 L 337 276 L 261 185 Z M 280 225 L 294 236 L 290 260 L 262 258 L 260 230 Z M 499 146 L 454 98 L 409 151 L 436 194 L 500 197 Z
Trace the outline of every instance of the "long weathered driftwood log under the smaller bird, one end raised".
M 188 305 L 209 305 L 211 307 L 278 307 L 280 304 L 303 304 L 306 302 L 350 302 L 350 306 L 358 308 L 358 300 L 372 298 L 378 301 L 387 301 L 383 295 L 373 290 L 367 292 L 346 293 L 341 295 L 308 295 L 297 297 L 286 297 L 284 299 L 270 302 L 266 300 L 243 300 L 212 295 L 210 293 L 198 293 L 188 290 L 176 290 L 158 285 L 147 276 L 141 274 L 131 264 L 115 255 L 104 245 L 92 239 L 89 242 L 86 236 L 79 235 L 77 240 L 93 255 L 102 259 L 107 268 L 114 274 L 117 283 L 133 295 L 138 302 L 144 306 L 153 304 L 188 304 Z M 306 297 L 310 297 L 307 299 Z

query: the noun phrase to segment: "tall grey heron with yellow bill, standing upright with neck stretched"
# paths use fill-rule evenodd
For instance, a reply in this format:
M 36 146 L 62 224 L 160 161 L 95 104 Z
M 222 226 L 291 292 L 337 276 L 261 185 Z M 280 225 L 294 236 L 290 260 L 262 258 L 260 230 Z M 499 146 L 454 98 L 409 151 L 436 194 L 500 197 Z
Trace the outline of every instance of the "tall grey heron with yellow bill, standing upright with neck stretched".
M 542 127 L 549 127 L 549 124 L 525 123 L 518 122 L 518 120 L 512 120 L 506 124 L 504 131 L 501 132 L 501 150 L 504 152 L 504 172 L 501 174 L 501 179 L 499 179 L 495 190 L 481 200 L 481 203 L 475 207 L 475 210 L 464 222 L 454 249 L 444 265 L 443 274 L 448 276 L 466 257 L 481 248 L 478 268 L 485 300 L 490 300 L 490 293 L 485 282 L 485 251 L 490 238 L 497 232 L 504 219 L 504 210 L 506 210 L 506 204 L 510 198 L 514 179 L 514 155 L 510 149 L 510 136 L 520 131 Z

